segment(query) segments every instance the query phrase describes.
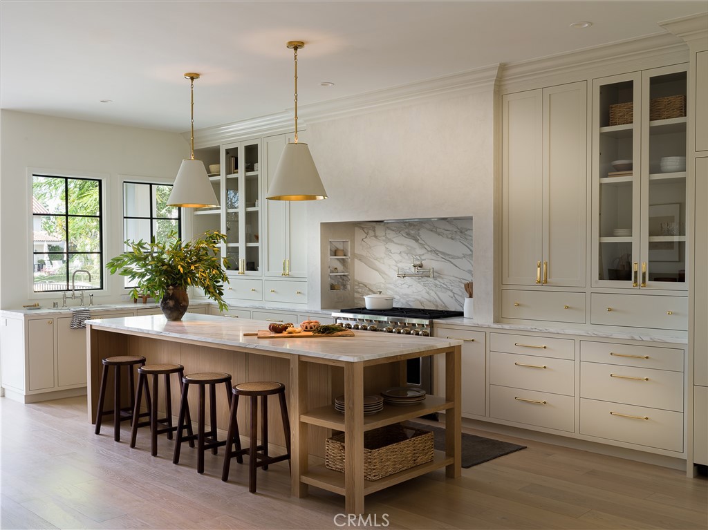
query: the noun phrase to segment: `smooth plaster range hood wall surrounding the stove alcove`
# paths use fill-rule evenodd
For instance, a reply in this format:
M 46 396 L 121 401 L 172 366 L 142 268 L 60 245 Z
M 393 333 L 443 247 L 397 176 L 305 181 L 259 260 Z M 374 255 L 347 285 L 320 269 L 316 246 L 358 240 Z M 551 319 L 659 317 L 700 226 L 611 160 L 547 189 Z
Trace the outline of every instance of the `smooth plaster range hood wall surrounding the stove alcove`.
M 493 313 L 493 89 L 307 127 L 329 195 L 309 203 L 309 299 L 320 299 L 320 223 L 474 218 L 475 316 Z

